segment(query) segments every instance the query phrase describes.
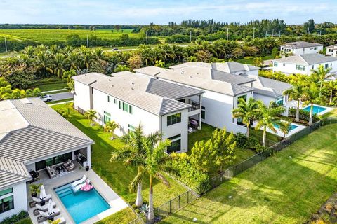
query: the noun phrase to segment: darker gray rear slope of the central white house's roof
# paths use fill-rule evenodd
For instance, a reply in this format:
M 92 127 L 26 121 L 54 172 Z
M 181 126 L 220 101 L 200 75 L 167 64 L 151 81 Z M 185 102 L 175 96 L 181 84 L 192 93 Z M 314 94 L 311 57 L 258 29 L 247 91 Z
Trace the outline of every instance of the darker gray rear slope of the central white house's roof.
M 150 92 L 152 94 L 171 99 L 182 99 L 204 93 L 204 91 L 201 90 L 178 85 L 175 83 L 169 83 L 163 80 L 158 80 L 156 78 L 150 79 L 149 85 L 147 85 L 146 92 Z

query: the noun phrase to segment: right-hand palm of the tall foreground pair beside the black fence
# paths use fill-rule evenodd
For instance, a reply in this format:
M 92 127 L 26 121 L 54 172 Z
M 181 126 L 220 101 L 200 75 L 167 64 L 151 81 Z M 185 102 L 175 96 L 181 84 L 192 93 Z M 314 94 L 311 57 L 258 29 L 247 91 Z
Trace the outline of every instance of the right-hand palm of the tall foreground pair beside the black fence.
M 169 158 L 169 155 L 165 153 L 167 147 L 171 145 L 169 139 L 159 141 L 159 143 L 151 141 L 151 139 L 143 139 L 143 145 L 146 152 L 146 159 L 144 165 L 144 172 L 150 176 L 150 194 L 149 194 L 149 211 L 147 212 L 147 221 L 153 223 L 154 221 L 154 209 L 153 209 L 153 179 L 159 179 L 165 186 L 170 186 L 169 181 L 165 176 L 161 174 L 164 170 L 165 160 Z

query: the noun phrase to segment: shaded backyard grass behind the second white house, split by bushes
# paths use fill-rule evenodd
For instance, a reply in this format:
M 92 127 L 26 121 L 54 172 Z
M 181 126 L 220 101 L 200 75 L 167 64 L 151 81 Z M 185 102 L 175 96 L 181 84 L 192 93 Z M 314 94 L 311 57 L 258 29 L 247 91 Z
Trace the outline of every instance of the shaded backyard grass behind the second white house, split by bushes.
M 201 130 L 188 134 L 187 154 L 191 153 L 191 149 L 193 148 L 195 141 L 201 141 L 201 140 L 207 141 L 208 139 L 211 138 L 212 132 L 214 130 L 216 130 L 216 127 L 202 123 Z M 235 148 L 235 155 L 237 158 L 234 160 L 233 165 L 239 162 L 242 162 L 243 160 L 246 160 L 247 158 L 250 158 L 251 156 L 255 155 L 255 152 L 249 149 Z M 223 169 L 226 169 L 227 167 L 230 167 L 230 165 L 223 167 Z

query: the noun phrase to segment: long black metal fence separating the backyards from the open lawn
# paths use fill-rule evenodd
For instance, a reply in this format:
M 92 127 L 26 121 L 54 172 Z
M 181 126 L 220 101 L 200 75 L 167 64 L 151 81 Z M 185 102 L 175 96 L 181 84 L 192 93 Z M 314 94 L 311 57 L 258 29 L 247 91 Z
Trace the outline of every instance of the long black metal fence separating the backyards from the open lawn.
M 305 127 L 303 130 L 296 132 L 290 137 L 286 137 L 282 141 L 279 141 L 273 144 L 272 146 L 268 146 L 268 148 L 265 151 L 262 151 L 256 155 L 253 155 L 251 158 L 248 158 L 244 160 L 243 162 L 240 162 L 239 164 L 234 165 L 234 167 L 230 167 L 226 169 L 224 172 L 211 178 L 211 189 L 210 190 L 212 190 L 213 188 L 216 188 L 221 183 L 231 179 L 232 177 L 237 176 L 237 174 L 244 172 L 246 169 L 253 167 L 259 162 L 262 162 L 266 158 L 270 157 L 270 155 L 272 155 L 273 153 L 277 151 L 281 151 L 283 148 L 286 148 L 286 146 L 289 146 L 294 141 L 297 141 L 301 137 L 304 137 L 305 135 L 310 134 L 311 132 L 317 130 L 319 127 L 322 127 L 323 125 L 333 124 L 333 123 L 337 123 L 337 119 L 330 118 L 330 119 L 321 120 L 311 125 L 310 127 Z M 194 190 L 187 190 L 187 192 L 181 195 L 178 195 L 178 197 L 175 197 L 169 200 L 169 202 L 161 204 L 161 206 L 154 209 L 154 222 L 157 223 L 161 221 L 161 219 L 165 218 L 166 216 L 170 216 L 171 214 L 179 211 L 180 209 L 185 207 L 187 204 L 190 204 L 194 200 L 197 200 L 198 197 L 200 197 L 200 195 L 195 193 Z M 136 218 L 135 220 L 131 221 L 128 224 L 138 224 L 138 223 L 147 223 L 145 214 L 140 215 L 138 218 Z

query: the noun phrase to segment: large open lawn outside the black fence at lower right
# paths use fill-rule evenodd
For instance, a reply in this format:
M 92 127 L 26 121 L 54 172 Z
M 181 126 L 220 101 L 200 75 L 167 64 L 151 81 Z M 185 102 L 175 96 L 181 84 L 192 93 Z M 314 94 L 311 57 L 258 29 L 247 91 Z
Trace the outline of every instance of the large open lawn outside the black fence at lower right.
M 336 145 L 337 124 L 321 127 L 163 223 L 304 223 L 336 192 Z

